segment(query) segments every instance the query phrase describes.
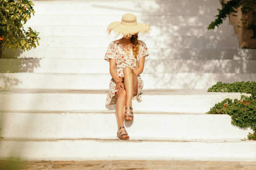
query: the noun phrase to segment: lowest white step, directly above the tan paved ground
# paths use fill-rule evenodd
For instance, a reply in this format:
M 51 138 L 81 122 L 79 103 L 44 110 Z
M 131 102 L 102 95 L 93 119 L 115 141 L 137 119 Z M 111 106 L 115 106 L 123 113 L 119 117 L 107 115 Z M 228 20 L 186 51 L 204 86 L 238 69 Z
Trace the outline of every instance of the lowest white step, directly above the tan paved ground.
M 127 148 L 127 149 L 125 149 Z M 256 141 L 187 142 L 101 139 L 1 140 L 1 160 L 256 161 Z

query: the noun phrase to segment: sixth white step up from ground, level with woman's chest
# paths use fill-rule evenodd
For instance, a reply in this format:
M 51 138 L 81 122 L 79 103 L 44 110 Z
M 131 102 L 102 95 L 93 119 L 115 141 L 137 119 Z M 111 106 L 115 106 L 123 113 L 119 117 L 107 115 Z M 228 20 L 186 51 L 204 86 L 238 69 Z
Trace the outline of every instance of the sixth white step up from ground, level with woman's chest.
M 70 48 L 41 47 L 19 52 L 5 49 L 3 58 L 73 58 L 103 59 L 107 47 Z M 150 48 L 150 59 L 256 59 L 256 49 L 196 49 L 196 48 Z M 86 55 L 85 55 L 86 54 Z

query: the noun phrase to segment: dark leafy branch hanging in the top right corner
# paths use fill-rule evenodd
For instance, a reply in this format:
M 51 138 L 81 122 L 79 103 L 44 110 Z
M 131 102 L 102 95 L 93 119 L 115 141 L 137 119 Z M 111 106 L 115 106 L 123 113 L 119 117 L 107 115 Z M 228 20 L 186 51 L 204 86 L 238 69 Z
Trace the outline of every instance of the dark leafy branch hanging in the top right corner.
M 256 1 L 248 1 L 248 0 L 231 0 L 227 1 L 226 4 L 223 3 L 222 1 L 222 9 L 218 9 L 219 14 L 216 15 L 217 17 L 214 21 L 212 21 L 208 25 L 208 30 L 209 29 L 214 29 L 215 26 L 219 27 L 220 24 L 222 24 L 222 21 L 225 20 L 228 15 L 232 14 L 233 16 L 237 16 L 234 13 L 237 13 L 237 8 L 241 7 L 242 14 L 247 14 L 248 12 L 252 11 L 253 18 L 254 20 L 252 23 L 247 24 L 245 26 L 247 29 L 252 29 L 253 30 L 253 36 L 251 38 L 256 38 L 256 23 L 255 23 L 255 18 L 256 18 Z M 243 20 L 243 19 L 241 19 Z M 247 19 L 242 22 L 243 24 L 247 23 Z M 237 25 L 238 27 L 241 27 Z

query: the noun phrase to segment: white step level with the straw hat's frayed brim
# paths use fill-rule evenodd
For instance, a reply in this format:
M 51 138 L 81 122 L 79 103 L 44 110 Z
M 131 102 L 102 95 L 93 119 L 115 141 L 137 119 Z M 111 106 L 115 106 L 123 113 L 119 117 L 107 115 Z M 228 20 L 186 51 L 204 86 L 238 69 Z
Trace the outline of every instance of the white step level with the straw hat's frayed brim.
M 86 25 L 33 25 L 31 26 L 40 36 L 106 36 L 106 26 L 86 26 Z M 139 33 L 138 37 L 145 36 L 233 36 L 233 25 L 219 25 L 214 30 L 207 29 L 208 25 L 199 26 L 152 26 L 150 34 Z M 25 27 L 25 29 L 27 29 Z

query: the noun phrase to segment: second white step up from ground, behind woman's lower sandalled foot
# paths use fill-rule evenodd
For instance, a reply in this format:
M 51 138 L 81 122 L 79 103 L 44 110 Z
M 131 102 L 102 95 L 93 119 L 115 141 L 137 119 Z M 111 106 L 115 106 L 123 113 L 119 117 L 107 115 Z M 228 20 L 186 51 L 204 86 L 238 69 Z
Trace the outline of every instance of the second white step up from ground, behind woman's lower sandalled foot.
M 135 108 L 134 108 L 135 109 Z M 231 124 L 227 114 L 134 111 L 126 130 L 132 140 L 241 141 L 253 130 Z M 97 123 L 96 123 L 97 122 Z M 185 125 L 185 126 L 184 126 Z M 1 137 L 27 139 L 113 139 L 115 112 L 1 112 Z

